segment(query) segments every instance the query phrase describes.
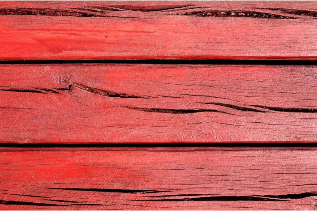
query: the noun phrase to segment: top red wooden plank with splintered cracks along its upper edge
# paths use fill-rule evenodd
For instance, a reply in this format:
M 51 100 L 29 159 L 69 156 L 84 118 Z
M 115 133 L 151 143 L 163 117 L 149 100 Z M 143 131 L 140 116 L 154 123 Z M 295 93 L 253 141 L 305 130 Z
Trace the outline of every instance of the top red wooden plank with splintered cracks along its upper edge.
M 317 59 L 317 2 L 0 2 L 0 60 Z

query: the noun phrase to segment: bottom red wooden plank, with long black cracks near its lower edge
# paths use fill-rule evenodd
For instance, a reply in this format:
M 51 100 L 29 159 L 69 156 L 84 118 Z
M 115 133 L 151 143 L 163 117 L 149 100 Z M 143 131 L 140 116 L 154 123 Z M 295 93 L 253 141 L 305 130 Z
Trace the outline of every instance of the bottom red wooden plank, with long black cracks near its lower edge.
M 316 209 L 315 148 L 2 148 L 0 160 L 1 210 Z

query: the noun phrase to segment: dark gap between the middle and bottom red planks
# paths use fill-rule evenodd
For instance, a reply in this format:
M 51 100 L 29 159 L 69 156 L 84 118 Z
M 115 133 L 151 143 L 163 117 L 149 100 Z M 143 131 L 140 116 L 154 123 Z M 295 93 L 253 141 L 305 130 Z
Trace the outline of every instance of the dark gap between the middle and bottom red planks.
M 17 144 L 17 143 L 0 143 L 0 147 L 23 147 L 23 148 L 317 147 L 317 143 L 162 143 L 162 144 Z

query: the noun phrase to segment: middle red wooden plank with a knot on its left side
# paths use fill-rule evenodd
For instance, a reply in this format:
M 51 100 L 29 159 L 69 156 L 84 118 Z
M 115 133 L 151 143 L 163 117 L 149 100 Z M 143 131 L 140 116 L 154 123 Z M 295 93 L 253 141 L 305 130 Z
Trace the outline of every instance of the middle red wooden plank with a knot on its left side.
M 0 66 L 2 143 L 316 142 L 316 66 Z

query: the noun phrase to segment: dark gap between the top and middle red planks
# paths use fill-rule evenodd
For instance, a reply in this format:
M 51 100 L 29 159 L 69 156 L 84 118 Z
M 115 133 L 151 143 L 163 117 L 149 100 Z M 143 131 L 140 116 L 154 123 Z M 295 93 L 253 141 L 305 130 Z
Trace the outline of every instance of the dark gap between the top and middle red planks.
M 317 65 L 317 60 L 272 59 L 74 59 L 74 60 L 0 60 L 0 64 L 166 64 L 166 65 Z

